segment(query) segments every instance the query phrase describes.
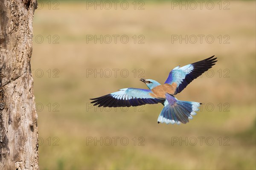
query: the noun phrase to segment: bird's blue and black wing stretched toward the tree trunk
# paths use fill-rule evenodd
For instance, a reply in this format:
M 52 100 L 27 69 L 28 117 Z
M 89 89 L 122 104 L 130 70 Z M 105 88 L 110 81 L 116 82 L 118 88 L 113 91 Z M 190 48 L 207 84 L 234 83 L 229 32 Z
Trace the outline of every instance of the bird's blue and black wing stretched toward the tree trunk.
M 140 88 L 123 88 L 105 96 L 97 97 L 91 103 L 99 105 L 99 107 L 130 107 L 145 104 L 157 104 L 163 100 L 154 98 L 150 95 L 151 90 Z

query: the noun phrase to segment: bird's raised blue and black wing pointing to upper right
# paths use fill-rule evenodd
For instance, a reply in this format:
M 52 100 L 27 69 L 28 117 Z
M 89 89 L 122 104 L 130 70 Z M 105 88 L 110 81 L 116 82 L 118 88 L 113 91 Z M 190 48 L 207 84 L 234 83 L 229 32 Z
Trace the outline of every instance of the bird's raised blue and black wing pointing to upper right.
M 217 60 L 215 60 L 217 58 L 213 57 L 214 56 L 183 67 L 177 66 L 172 69 L 165 83 L 172 86 L 177 85 L 173 95 L 180 93 L 193 79 L 196 79 L 205 71 L 209 70 L 209 68 L 212 68 L 215 62 L 217 62 Z

